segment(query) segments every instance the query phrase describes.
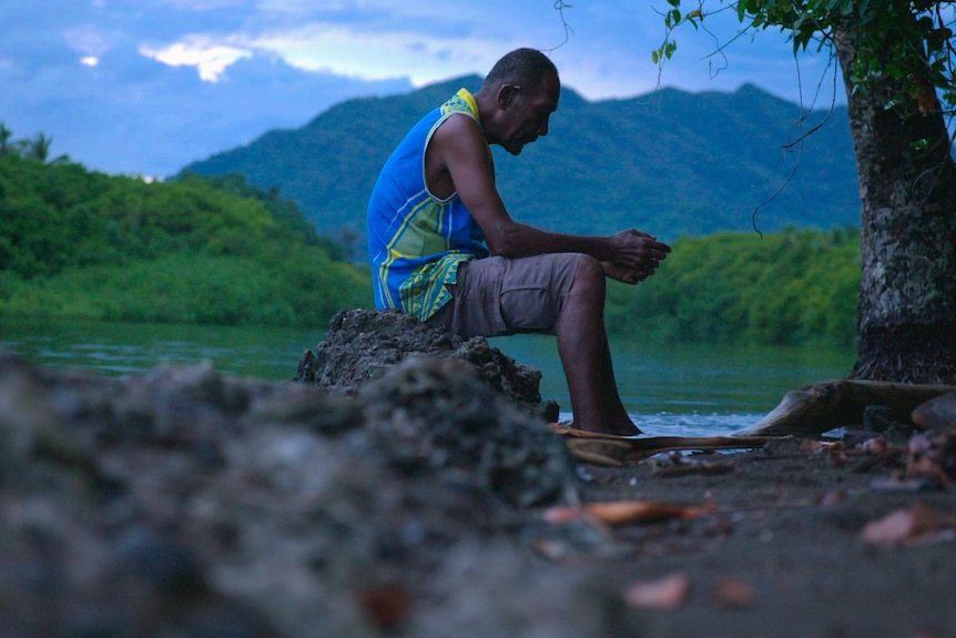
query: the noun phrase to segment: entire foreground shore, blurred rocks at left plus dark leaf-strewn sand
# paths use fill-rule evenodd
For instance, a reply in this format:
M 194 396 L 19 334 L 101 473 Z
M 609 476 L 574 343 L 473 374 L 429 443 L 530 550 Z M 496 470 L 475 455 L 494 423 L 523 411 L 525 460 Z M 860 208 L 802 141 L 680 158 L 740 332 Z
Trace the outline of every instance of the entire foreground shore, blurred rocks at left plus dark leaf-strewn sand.
M 469 371 L 0 353 L 0 636 L 956 636 L 956 499 L 906 440 L 599 465 Z

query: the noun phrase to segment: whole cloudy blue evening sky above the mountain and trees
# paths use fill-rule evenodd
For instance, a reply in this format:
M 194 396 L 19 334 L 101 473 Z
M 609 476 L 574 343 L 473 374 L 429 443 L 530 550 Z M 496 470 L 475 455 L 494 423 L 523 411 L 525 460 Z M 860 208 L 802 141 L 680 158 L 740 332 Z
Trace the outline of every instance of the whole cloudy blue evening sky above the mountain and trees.
M 817 105 L 841 101 L 827 55 L 797 63 L 780 32 L 733 40 L 740 27 L 726 11 L 708 16 L 704 31 L 678 31 L 659 75 L 651 51 L 667 9 L 667 0 L 3 0 L 0 123 L 13 140 L 51 138 L 54 158 L 163 178 L 348 99 L 484 75 L 518 47 L 548 52 L 565 87 L 588 100 L 749 82 L 810 104 L 822 82 Z

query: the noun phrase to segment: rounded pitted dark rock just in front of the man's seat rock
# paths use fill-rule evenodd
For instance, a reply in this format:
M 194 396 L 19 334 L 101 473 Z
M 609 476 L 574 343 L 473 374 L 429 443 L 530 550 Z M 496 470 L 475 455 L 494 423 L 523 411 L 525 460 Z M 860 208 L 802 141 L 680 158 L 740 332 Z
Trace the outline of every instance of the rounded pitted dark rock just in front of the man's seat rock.
M 393 465 L 438 472 L 519 507 L 555 500 L 568 485 L 563 442 L 460 361 L 411 357 L 359 397 Z

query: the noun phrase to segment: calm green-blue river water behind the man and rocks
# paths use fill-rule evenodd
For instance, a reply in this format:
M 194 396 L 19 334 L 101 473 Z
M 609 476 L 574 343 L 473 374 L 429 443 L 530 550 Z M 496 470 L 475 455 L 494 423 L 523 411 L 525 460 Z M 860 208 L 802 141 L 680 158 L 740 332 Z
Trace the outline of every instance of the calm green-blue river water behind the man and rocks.
M 0 320 L 0 347 L 42 365 L 119 376 L 164 364 L 212 361 L 230 375 L 288 379 L 317 330 Z M 553 337 L 490 340 L 541 369 L 541 395 L 569 409 Z M 621 397 L 649 434 L 725 434 L 757 422 L 783 395 L 845 376 L 854 353 L 817 348 L 612 343 Z M 566 414 L 565 417 L 570 417 Z

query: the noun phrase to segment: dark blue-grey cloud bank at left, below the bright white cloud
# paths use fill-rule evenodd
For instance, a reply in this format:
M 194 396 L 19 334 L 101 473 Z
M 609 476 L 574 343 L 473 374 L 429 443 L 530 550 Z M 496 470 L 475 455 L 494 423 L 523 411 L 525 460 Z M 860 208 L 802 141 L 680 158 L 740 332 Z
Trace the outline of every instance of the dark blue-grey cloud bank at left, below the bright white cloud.
M 16 139 L 43 132 L 54 154 L 110 173 L 170 175 L 271 129 L 303 125 L 344 99 L 409 89 L 400 78 L 363 82 L 266 53 L 223 53 L 199 37 L 184 40 L 191 48 L 146 47 L 144 55 L 129 31 L 67 31 L 0 38 L 0 122 Z M 4 63 L 21 37 L 20 54 Z

